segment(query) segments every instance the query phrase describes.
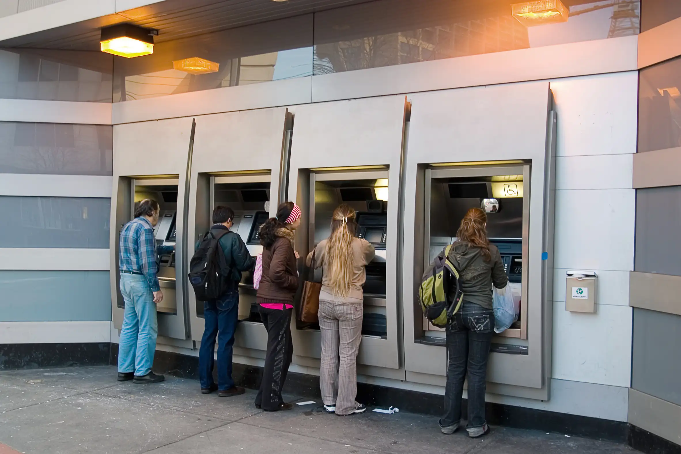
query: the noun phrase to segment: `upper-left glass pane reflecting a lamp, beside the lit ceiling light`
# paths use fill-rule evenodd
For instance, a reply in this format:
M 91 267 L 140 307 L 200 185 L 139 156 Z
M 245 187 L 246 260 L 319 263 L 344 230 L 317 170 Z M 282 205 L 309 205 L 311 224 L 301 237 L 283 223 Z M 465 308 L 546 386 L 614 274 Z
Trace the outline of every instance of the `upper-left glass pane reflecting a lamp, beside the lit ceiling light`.
M 312 28 L 307 14 L 157 42 L 153 54 L 136 59 L 114 57 L 114 102 L 312 76 Z

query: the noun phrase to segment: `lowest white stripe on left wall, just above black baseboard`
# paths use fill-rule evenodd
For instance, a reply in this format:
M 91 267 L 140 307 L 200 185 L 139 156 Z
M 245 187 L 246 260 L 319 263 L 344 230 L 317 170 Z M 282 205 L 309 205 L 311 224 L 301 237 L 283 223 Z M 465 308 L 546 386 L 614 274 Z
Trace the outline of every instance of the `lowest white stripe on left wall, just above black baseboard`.
M 110 342 L 110 321 L 0 322 L 0 344 Z

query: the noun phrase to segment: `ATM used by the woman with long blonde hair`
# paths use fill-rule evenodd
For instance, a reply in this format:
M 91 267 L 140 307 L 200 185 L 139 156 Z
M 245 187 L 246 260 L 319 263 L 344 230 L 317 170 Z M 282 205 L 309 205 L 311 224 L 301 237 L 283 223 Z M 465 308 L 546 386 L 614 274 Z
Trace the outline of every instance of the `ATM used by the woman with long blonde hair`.
M 340 203 L 358 213 L 359 231 L 377 250 L 366 267 L 364 321 L 358 373 L 404 380 L 400 364 L 398 298 L 400 172 L 404 156 L 404 96 L 296 106 L 288 197 L 302 210 L 296 230 L 300 257 L 328 238 Z M 299 264 L 300 276 L 307 276 Z M 319 368 L 321 336 L 315 326 L 292 326 L 293 363 Z

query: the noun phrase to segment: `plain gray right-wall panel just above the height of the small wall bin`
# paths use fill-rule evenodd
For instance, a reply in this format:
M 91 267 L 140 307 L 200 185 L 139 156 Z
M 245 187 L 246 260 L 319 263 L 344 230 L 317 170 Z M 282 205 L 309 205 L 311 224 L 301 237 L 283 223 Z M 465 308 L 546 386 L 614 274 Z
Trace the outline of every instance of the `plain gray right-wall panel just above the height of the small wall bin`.
M 681 186 L 639 189 L 634 270 L 681 276 Z

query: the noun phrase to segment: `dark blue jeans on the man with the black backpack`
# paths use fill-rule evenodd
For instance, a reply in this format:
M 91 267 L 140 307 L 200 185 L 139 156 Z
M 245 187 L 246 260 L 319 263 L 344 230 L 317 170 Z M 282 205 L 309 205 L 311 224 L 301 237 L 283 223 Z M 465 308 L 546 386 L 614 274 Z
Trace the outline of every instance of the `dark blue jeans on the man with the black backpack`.
M 225 293 L 215 301 L 204 302 L 204 337 L 199 350 L 199 378 L 202 388 L 213 385 L 213 352 L 217 337 L 217 383 L 221 391 L 234 386 L 232 351 L 234 331 L 239 317 L 238 290 Z

